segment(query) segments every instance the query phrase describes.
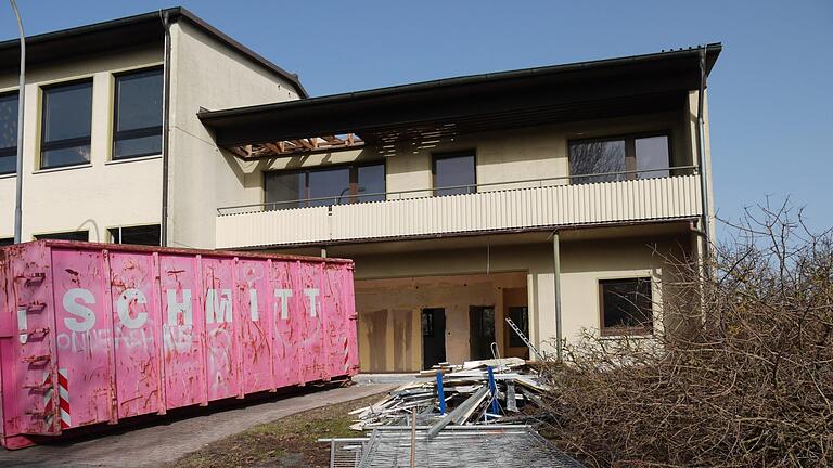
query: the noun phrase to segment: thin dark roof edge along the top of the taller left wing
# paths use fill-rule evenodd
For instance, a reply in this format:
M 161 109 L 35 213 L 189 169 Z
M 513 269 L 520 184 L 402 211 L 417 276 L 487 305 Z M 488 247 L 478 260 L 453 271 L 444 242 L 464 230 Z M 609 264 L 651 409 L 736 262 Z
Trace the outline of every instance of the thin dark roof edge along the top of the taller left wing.
M 111 20 L 100 23 L 93 23 L 89 25 L 84 26 L 77 26 L 68 29 L 61 29 L 57 31 L 52 32 L 43 32 L 39 35 L 34 36 L 27 36 L 26 37 L 26 46 L 37 46 L 39 43 L 47 43 L 51 41 L 57 41 L 65 38 L 71 37 L 77 37 L 81 36 L 88 32 L 98 32 L 102 30 L 115 30 L 123 26 L 127 25 L 134 25 L 139 23 L 146 23 L 146 22 L 158 22 L 159 29 L 162 30 L 162 21 L 161 15 L 167 13 L 168 17 L 171 21 L 177 21 L 178 18 L 182 17 L 189 21 L 191 24 L 195 25 L 200 29 L 202 29 L 205 32 L 208 32 L 208 35 L 213 36 L 223 44 L 230 47 L 231 49 L 235 50 L 236 52 L 241 53 L 242 55 L 246 56 L 248 60 L 255 62 L 256 64 L 262 66 L 264 68 L 267 68 L 271 73 L 280 76 L 281 78 L 284 78 L 292 84 L 293 88 L 298 92 L 298 94 L 302 98 L 308 98 L 309 94 L 307 93 L 307 90 L 304 89 L 304 86 L 300 83 L 300 80 L 298 79 L 298 76 L 295 74 L 291 74 L 286 72 L 285 69 L 279 67 L 274 63 L 270 62 L 262 55 L 256 53 L 252 49 L 243 46 L 242 43 L 238 42 L 236 40 L 232 39 L 225 32 L 220 31 L 216 27 L 212 26 L 210 24 L 206 23 L 201 17 L 196 16 L 195 14 L 191 13 L 190 11 L 185 10 L 181 6 L 175 6 L 164 10 L 158 10 L 150 13 L 142 13 L 138 15 L 132 16 L 125 16 L 117 20 Z M 0 50 L 3 49 L 17 49 L 20 48 L 20 41 L 18 39 L 10 39 L 0 42 Z

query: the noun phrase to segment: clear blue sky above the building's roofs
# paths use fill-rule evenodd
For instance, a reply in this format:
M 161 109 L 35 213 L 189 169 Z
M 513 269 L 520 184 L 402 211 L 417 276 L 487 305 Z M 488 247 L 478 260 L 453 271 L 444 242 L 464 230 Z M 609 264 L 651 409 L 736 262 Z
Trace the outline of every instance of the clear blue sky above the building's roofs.
M 17 0 L 27 34 L 176 5 Z M 16 37 L 0 0 L 0 38 Z M 833 226 L 833 1 L 181 1 L 312 95 L 721 41 L 709 82 L 718 216 L 791 196 Z

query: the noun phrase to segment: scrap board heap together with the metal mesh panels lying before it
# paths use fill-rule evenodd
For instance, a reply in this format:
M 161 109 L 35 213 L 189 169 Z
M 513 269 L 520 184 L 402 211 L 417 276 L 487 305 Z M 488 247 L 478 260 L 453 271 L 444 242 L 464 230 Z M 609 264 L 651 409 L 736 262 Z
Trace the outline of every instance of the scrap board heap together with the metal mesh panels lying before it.
M 351 412 L 367 437 L 320 442 L 331 468 L 580 468 L 535 430 L 547 390 L 517 358 L 440 363 Z

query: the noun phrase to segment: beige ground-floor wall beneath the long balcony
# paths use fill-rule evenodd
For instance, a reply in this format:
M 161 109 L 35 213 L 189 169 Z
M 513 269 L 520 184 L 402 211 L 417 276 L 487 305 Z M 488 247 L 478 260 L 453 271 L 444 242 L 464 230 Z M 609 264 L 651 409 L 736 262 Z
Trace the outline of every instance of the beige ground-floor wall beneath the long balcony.
M 688 250 L 689 243 L 687 236 L 562 242 L 560 251 L 563 336 L 567 340 L 575 340 L 585 330 L 598 333 L 600 280 L 650 276 L 654 300 L 661 302 L 664 285 L 671 283 L 671 269 L 667 268 L 664 258 L 669 253 L 681 258 L 680 252 Z M 530 338 L 535 343 L 541 344 L 542 349 L 553 351 L 554 346 L 550 340 L 556 335 L 555 289 L 553 250 L 550 243 L 492 246 L 488 257 L 485 248 L 476 248 L 355 256 L 354 260 L 357 284 L 361 284 L 362 280 L 369 278 L 482 274 L 486 272 L 487 258 L 489 271 L 492 273 L 525 272 Z M 357 291 L 361 297 L 362 292 L 359 289 Z M 407 291 L 400 289 L 397 294 L 407 295 Z M 432 298 L 421 307 L 443 307 L 440 302 L 446 296 L 448 295 Z M 389 299 L 379 301 L 373 303 L 363 297 L 357 299 L 357 304 L 368 310 L 385 309 Z M 401 308 L 397 306 L 398 309 L 412 307 L 407 304 L 407 298 L 398 298 L 395 302 L 406 304 Z M 658 312 L 659 306 L 655 308 Z M 467 333 L 467 318 L 458 325 L 458 333 L 448 337 L 447 347 L 449 360 L 459 361 L 467 359 L 467 338 L 459 338 Z M 454 338 L 462 341 L 452 342 Z

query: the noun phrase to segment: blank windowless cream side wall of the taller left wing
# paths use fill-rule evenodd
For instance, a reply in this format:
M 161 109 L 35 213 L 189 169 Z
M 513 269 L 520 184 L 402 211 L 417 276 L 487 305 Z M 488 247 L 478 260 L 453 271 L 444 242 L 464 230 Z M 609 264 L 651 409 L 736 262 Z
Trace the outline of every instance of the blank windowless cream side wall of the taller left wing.
M 187 22 L 171 25 L 168 245 L 214 248 L 218 207 L 259 203 L 257 162 L 220 151 L 196 117 L 216 110 L 297 99 L 285 80 Z

